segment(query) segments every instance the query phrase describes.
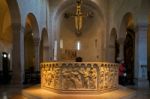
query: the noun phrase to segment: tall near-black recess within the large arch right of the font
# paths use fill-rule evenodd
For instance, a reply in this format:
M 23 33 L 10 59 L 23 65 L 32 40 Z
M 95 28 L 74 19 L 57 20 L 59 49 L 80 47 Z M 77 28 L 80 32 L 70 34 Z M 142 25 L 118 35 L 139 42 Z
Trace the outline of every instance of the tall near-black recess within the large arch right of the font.
M 135 32 L 128 28 L 124 42 L 124 61 L 126 65 L 128 84 L 134 80 Z

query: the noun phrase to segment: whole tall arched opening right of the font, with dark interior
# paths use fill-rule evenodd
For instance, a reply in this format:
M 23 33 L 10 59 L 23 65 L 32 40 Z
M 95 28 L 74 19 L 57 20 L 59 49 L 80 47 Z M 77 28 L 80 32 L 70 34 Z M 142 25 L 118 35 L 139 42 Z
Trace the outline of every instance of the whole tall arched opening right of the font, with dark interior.
M 121 23 L 120 38 L 123 39 L 120 46 L 120 54 L 124 60 L 127 72 L 127 84 L 134 84 L 134 63 L 135 63 L 135 26 L 132 14 L 126 13 Z

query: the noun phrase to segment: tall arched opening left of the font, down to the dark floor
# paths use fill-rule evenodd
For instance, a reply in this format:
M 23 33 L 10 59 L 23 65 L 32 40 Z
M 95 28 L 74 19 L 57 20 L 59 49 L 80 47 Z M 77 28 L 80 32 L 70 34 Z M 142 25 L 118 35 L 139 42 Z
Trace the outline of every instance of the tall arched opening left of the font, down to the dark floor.
M 29 13 L 24 33 L 24 83 L 39 83 L 39 32 L 36 17 Z

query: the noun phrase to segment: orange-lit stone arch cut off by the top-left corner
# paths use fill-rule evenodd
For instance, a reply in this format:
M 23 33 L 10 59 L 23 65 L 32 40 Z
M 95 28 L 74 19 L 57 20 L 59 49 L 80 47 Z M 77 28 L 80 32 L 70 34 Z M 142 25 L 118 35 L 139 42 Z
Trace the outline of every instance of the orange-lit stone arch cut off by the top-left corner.
M 10 0 L 1 0 L 0 6 L 2 8 L 0 15 L 0 22 L 2 22 L 2 25 L 0 26 L 0 38 L 5 45 L 9 44 L 12 46 L 14 41 L 13 33 L 19 32 L 21 29 L 21 16 L 18 2 L 17 0 L 14 0 L 13 2 Z

